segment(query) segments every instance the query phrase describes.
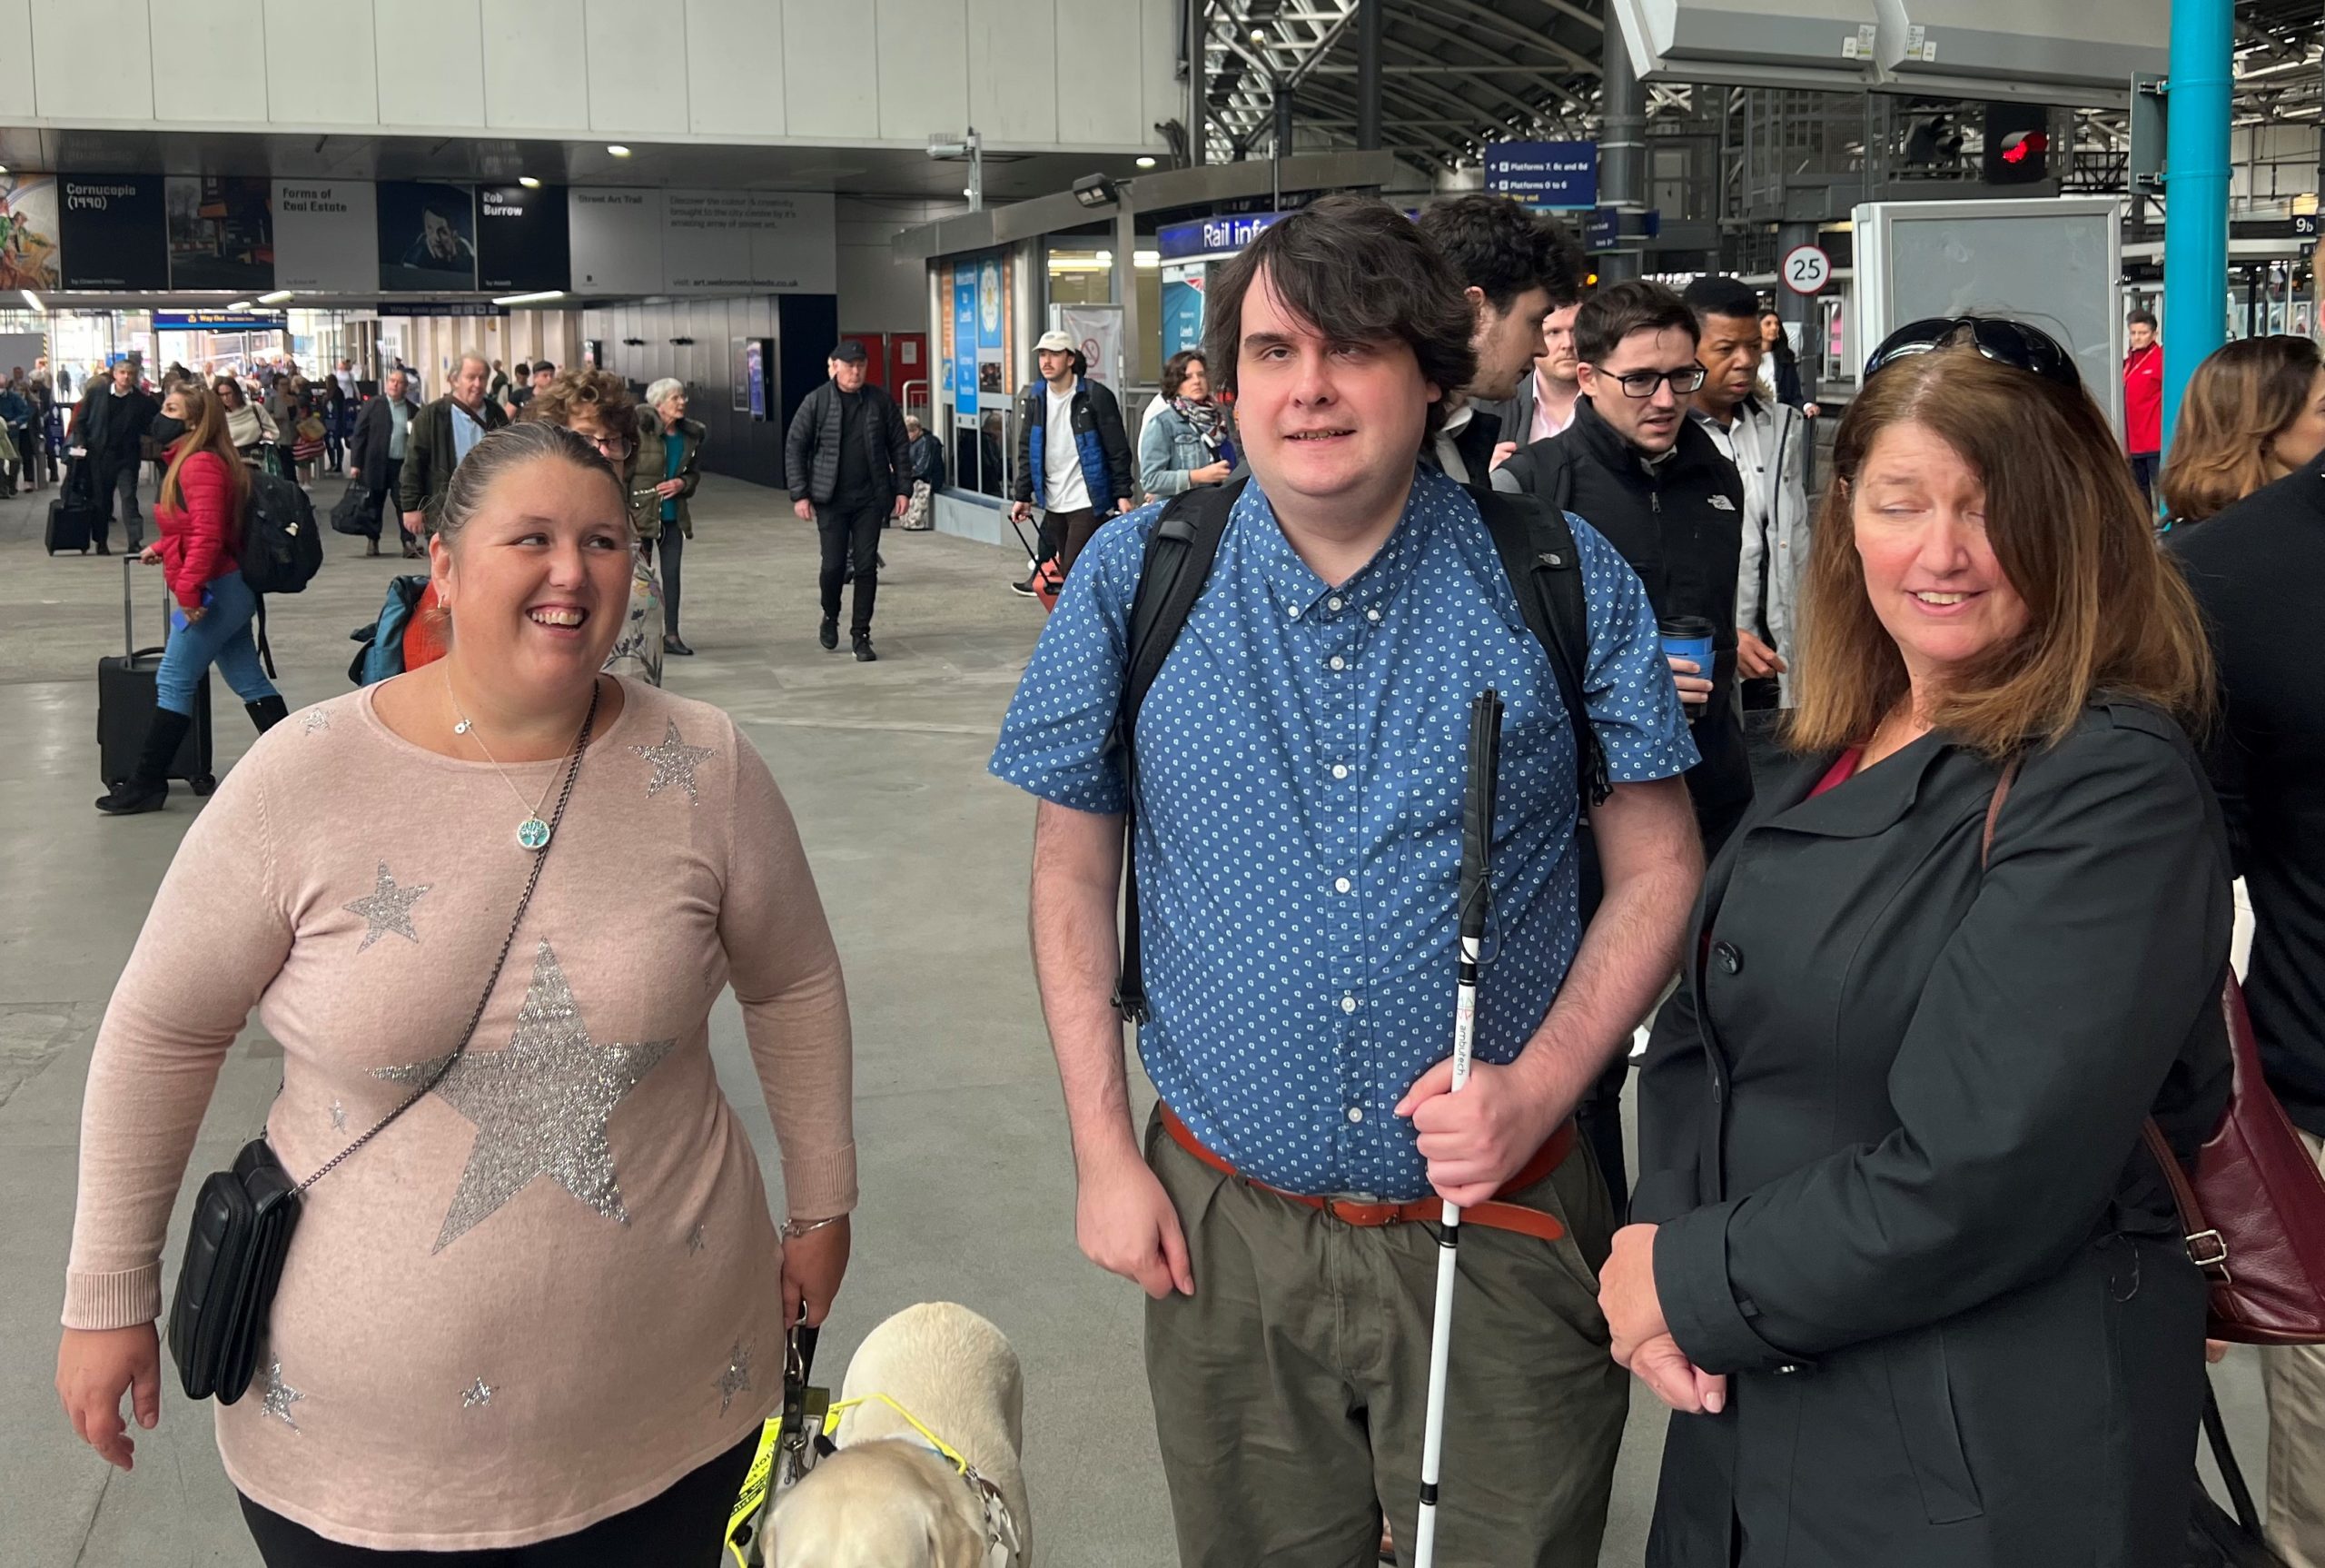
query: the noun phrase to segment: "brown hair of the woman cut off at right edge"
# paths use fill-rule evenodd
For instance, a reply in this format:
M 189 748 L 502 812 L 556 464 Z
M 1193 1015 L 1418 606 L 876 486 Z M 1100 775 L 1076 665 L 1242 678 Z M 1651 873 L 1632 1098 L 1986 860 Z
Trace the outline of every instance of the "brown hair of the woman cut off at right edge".
M 2239 337 L 2195 368 L 2165 463 L 2174 519 L 2199 523 L 2276 479 L 2269 447 L 2309 405 L 2318 363 L 2316 340 L 2278 333 Z

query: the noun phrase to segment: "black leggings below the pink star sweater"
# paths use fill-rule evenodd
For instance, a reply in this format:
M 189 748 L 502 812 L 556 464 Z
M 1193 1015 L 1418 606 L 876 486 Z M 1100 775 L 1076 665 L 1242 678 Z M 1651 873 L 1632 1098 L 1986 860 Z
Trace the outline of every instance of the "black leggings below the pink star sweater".
M 323 1540 L 305 1524 L 293 1524 L 242 1498 L 242 1519 L 251 1526 L 258 1556 L 267 1568 L 718 1568 L 721 1540 L 742 1477 L 758 1452 L 758 1431 L 700 1470 L 684 1475 L 670 1491 L 637 1508 L 600 1519 L 586 1531 L 542 1540 L 530 1547 L 495 1547 L 488 1552 L 374 1552 Z

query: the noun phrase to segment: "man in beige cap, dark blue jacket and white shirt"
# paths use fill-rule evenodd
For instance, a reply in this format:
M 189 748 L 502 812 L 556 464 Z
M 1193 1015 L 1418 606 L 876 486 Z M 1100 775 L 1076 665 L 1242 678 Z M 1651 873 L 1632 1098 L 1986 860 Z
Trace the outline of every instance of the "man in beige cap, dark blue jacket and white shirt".
M 1139 465 L 1123 433 L 1123 405 L 1102 382 L 1083 375 L 1074 340 L 1058 330 L 1042 333 L 1032 358 L 1042 379 L 1018 393 L 1016 505 L 1009 516 L 1025 521 L 1042 507 L 1042 561 L 1058 556 L 1058 570 L 1072 572 L 1074 556 L 1097 526 L 1132 507 Z M 1009 586 L 1032 593 L 1030 577 Z

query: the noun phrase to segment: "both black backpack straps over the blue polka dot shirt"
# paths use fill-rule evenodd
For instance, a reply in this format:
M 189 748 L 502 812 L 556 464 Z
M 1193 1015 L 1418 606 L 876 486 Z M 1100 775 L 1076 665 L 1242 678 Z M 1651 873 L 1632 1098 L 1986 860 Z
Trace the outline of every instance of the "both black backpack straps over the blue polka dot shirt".
M 1139 963 L 1139 833 L 1137 833 L 1137 726 L 1139 705 L 1162 672 L 1172 644 L 1186 628 L 1186 619 L 1202 598 L 1202 586 L 1211 579 L 1211 561 L 1218 556 L 1218 540 L 1228 533 L 1228 516 L 1246 479 L 1232 484 L 1207 484 L 1181 491 L 1162 507 L 1153 533 L 1146 535 L 1146 556 L 1139 565 L 1139 591 L 1130 600 L 1130 647 L 1123 661 L 1123 700 L 1114 717 L 1109 749 L 1123 758 L 1123 865 L 1128 896 L 1123 898 L 1123 975 L 1114 991 L 1114 1007 L 1130 1024 L 1146 1021 L 1146 972 Z M 1509 586 L 1518 596 L 1525 626 L 1541 642 L 1551 658 L 1551 675 L 1558 677 L 1558 698 L 1567 710 L 1567 728 L 1574 730 L 1574 772 L 1581 782 L 1583 807 L 1600 805 L 1611 793 L 1607 782 L 1607 754 L 1597 730 L 1590 728 L 1590 710 L 1583 703 L 1583 670 L 1590 668 L 1590 600 L 1583 591 L 1581 558 L 1574 547 L 1574 530 L 1560 509 L 1544 505 L 1535 496 L 1504 496 L 1497 491 L 1469 489 L 1493 549 L 1502 556 Z

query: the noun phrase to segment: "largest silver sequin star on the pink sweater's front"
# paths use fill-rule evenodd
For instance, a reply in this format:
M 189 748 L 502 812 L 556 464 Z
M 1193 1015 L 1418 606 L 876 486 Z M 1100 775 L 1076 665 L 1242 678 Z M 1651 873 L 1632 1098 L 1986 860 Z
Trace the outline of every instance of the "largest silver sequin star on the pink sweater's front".
M 532 986 L 516 1012 L 509 1045 L 460 1056 L 435 1086 L 437 1098 L 477 1124 L 477 1142 L 432 1252 L 444 1252 L 474 1224 L 493 1217 L 535 1177 L 549 1177 L 616 1224 L 630 1224 L 604 1124 L 674 1045 L 677 1040 L 591 1040 L 572 984 L 549 942 L 542 942 L 532 954 Z M 439 1065 L 444 1059 L 435 1056 L 405 1068 L 377 1068 L 372 1077 L 425 1084 Z

